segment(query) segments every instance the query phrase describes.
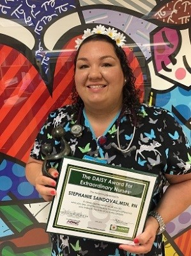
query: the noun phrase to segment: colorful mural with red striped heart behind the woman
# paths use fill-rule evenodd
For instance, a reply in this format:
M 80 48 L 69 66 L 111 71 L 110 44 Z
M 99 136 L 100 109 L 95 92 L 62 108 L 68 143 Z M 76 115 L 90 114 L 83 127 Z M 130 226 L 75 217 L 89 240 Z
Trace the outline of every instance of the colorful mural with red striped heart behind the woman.
M 50 203 L 24 166 L 47 114 L 70 103 L 74 40 L 87 28 L 125 34 L 142 101 L 170 110 L 191 141 L 190 15 L 191 0 L 0 1 L 1 255 L 50 255 Z M 191 207 L 167 225 L 167 256 L 190 256 L 190 225 Z

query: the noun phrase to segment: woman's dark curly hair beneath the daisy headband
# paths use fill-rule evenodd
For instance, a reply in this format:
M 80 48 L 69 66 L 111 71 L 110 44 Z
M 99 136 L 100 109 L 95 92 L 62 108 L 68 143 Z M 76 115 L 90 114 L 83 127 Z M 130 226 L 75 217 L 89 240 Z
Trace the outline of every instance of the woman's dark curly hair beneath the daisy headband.
M 130 65 L 128 64 L 125 51 L 123 51 L 121 47 L 117 46 L 116 41 L 112 40 L 111 37 L 103 34 L 94 34 L 84 39 L 80 44 L 79 48 L 77 49 L 77 53 L 74 58 L 74 73 L 76 69 L 76 62 L 80 48 L 87 42 L 91 41 L 109 42 L 109 44 L 112 44 L 112 46 L 114 47 L 114 51 L 119 58 L 121 69 L 126 79 L 126 83 L 123 87 L 123 108 L 131 110 L 133 114 L 132 118 L 135 121 L 135 116 L 137 115 L 137 112 L 141 105 L 139 98 L 140 90 L 135 88 L 135 76 L 132 72 L 132 69 L 130 68 Z M 83 101 L 77 93 L 77 90 L 75 89 L 75 81 L 72 88 L 72 101 L 73 105 L 75 106 L 75 113 L 78 113 L 79 108 L 83 105 Z

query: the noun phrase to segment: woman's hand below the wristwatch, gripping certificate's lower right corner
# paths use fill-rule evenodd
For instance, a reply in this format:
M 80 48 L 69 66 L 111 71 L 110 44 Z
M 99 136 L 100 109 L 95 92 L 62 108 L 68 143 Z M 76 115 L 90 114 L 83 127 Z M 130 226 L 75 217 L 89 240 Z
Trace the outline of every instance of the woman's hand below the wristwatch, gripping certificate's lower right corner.
M 136 254 L 150 252 L 155 241 L 158 226 L 158 221 L 155 218 L 149 216 L 146 221 L 144 232 L 142 232 L 141 235 L 138 235 L 134 239 L 135 245 L 120 244 L 119 249 Z

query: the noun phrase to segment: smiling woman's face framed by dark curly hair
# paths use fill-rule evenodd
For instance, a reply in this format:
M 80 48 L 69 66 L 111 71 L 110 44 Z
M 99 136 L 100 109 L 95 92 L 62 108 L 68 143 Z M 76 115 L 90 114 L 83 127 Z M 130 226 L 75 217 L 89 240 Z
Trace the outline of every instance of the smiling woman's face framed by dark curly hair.
M 91 41 L 79 51 L 75 69 L 75 86 L 85 107 L 117 108 L 122 106 L 124 75 L 108 42 Z

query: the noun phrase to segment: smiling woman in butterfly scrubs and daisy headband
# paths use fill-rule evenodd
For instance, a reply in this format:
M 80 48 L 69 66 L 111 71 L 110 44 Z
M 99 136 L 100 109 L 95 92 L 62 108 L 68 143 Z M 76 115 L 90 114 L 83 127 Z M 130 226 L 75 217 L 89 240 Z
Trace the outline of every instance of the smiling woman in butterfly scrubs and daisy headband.
M 139 102 L 135 78 L 121 47 L 124 40 L 123 34 L 101 25 L 84 31 L 82 40 L 77 40 L 73 105 L 50 113 L 31 151 L 26 177 L 44 200 L 52 200 L 59 162 L 49 169 L 52 178 L 43 176 L 41 145 L 50 143 L 54 153 L 60 151 L 60 145 L 48 136 L 59 125 L 66 131 L 74 157 L 101 158 L 107 164 L 157 174 L 151 214 L 142 234 L 134 239 L 135 245 L 52 234 L 52 255 L 164 255 L 160 233 L 165 223 L 190 205 L 190 145 L 167 110 Z M 70 131 L 75 122 L 82 126 L 82 134 L 76 137 Z M 166 181 L 170 185 L 163 194 Z

